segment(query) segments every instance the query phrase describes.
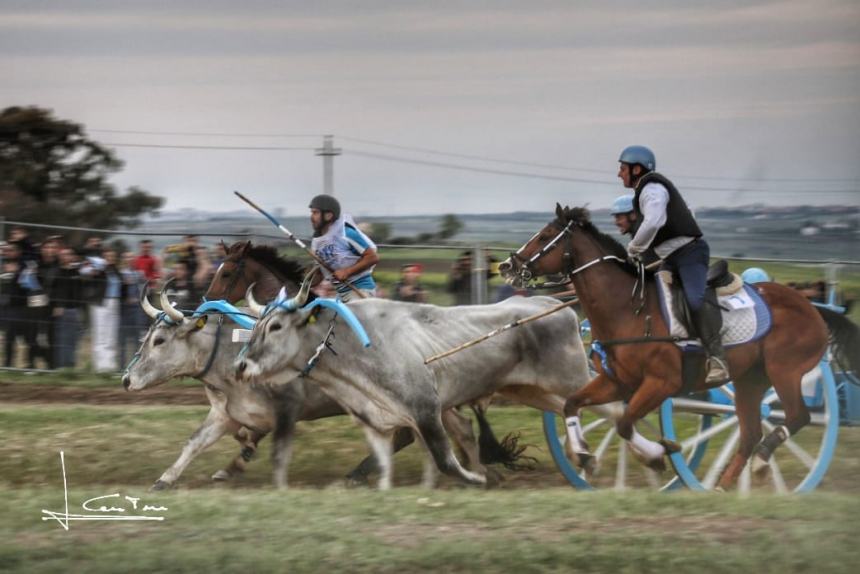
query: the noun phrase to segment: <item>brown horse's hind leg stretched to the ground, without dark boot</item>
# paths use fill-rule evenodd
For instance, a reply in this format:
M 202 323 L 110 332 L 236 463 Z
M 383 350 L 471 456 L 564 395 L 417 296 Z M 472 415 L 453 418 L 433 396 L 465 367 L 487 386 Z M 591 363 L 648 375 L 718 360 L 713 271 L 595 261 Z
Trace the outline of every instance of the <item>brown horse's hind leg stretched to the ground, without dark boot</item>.
M 769 384 L 758 373 L 751 373 L 735 381 L 735 416 L 738 417 L 740 442 L 728 466 L 720 476 L 717 488 L 731 488 L 749 460 L 756 444 L 761 440 L 761 399 Z

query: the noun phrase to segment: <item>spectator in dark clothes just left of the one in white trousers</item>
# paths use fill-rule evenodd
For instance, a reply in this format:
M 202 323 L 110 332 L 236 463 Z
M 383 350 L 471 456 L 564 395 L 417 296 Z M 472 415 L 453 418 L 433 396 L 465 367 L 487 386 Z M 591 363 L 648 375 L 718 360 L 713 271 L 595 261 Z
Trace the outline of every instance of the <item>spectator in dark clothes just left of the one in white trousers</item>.
M 75 366 L 78 339 L 81 336 L 80 308 L 83 305 L 83 283 L 80 262 L 74 250 L 60 249 L 59 271 L 49 295 L 54 315 L 54 367 Z

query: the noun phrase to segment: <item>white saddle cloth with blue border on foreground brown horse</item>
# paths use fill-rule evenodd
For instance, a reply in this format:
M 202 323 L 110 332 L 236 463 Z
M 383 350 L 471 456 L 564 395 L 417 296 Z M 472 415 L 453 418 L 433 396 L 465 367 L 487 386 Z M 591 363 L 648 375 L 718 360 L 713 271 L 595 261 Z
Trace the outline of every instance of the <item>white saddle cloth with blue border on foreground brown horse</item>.
M 661 271 L 655 276 L 657 292 L 660 297 L 660 310 L 663 320 L 669 326 L 669 333 L 681 340 L 678 345 L 692 350 L 701 347 L 701 341 L 691 337 L 688 325 L 684 293 L 673 284 L 670 273 Z M 735 276 L 735 281 L 727 287 L 717 289 L 717 301 L 723 313 L 723 328 L 720 335 L 723 346 L 734 347 L 764 337 L 771 327 L 770 308 L 753 285 Z

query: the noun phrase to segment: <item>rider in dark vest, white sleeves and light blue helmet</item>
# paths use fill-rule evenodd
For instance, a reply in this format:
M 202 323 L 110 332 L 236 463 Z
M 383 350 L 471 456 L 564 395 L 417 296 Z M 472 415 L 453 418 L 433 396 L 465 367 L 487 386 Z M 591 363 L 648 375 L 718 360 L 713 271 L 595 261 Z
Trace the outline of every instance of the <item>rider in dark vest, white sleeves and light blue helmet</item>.
M 627 253 L 641 260 L 646 252 L 653 251 L 663 260 L 662 269 L 678 276 L 693 323 L 708 352 L 705 382 L 727 381 L 728 362 L 720 340 L 722 315 L 716 293 L 706 288 L 710 247 L 681 194 L 671 181 L 654 171 L 657 161 L 650 149 L 629 146 L 618 161 L 618 177 L 624 187 L 635 191 L 636 225 Z

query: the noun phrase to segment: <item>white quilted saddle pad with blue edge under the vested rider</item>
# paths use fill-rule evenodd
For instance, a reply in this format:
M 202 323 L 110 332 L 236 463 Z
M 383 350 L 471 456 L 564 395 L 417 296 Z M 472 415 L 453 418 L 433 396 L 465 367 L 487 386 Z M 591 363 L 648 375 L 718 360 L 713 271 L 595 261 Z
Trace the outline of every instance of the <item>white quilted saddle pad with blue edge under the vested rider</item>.
M 673 297 L 683 297 L 683 294 L 666 285 L 659 278 L 659 274 L 657 292 L 660 294 L 660 310 L 663 313 L 663 320 L 669 326 L 669 333 L 682 339 L 677 344 L 680 347 L 701 347 L 698 339 L 690 337 L 684 322 L 670 312 L 674 309 Z M 744 283 L 742 289 L 731 295 L 718 296 L 717 301 L 723 313 L 723 328 L 720 335 L 724 347 L 735 347 L 757 341 L 770 331 L 770 308 L 754 286 Z

